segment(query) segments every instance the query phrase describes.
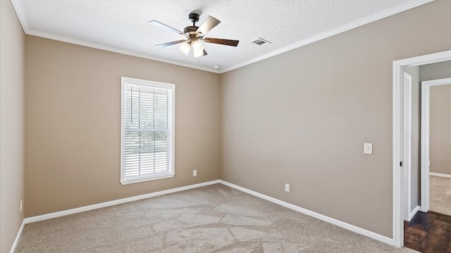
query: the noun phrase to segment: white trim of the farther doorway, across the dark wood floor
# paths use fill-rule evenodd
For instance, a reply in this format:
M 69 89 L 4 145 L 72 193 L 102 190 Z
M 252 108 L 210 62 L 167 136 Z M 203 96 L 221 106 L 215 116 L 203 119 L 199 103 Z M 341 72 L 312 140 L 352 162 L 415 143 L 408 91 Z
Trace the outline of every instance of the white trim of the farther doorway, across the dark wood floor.
M 431 86 L 451 84 L 451 78 L 421 82 L 421 212 L 429 211 L 429 112 Z

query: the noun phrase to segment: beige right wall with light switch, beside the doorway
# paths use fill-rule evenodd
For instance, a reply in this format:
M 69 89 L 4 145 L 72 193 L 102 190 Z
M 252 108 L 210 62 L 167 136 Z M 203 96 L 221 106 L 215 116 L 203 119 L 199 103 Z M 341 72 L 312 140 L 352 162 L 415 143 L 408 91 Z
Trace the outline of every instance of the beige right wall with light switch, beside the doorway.
M 391 237 L 393 60 L 450 50 L 450 9 L 433 1 L 223 74 L 221 179 Z

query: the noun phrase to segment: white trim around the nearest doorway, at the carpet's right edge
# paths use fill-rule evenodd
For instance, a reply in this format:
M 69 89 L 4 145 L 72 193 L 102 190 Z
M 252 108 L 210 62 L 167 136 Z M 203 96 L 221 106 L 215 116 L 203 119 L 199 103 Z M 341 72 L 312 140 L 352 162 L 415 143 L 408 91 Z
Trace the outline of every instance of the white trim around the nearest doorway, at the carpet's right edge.
M 404 226 L 402 219 L 402 93 L 404 67 L 425 65 L 451 60 L 451 50 L 431 53 L 403 60 L 393 61 L 393 242 L 395 246 L 404 245 Z

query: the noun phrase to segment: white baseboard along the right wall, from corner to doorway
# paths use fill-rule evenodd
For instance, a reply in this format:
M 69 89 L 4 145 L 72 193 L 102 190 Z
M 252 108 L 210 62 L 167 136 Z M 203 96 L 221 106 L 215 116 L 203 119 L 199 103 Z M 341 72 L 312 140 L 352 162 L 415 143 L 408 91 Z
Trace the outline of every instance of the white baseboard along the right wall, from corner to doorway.
M 255 192 L 253 190 L 249 190 L 249 189 L 243 188 L 241 186 L 236 186 L 233 183 L 228 183 L 228 182 L 222 181 L 222 180 L 220 180 L 220 182 L 223 185 L 225 185 L 225 186 L 229 186 L 231 188 L 235 188 L 237 190 L 241 190 L 242 192 L 249 193 L 250 195 L 254 195 L 255 197 L 260 197 L 260 198 L 262 198 L 264 200 L 268 200 L 269 202 L 276 203 L 277 205 L 281 205 L 283 207 L 288 207 L 288 208 L 293 209 L 293 210 L 295 210 L 297 212 L 300 212 L 302 214 L 307 214 L 308 216 L 312 216 L 312 217 L 314 217 L 316 219 L 320 219 L 321 221 L 326 221 L 328 223 L 332 223 L 335 226 L 339 226 L 339 227 L 345 228 L 347 230 L 353 231 L 355 233 L 359 233 L 361 235 L 368 236 L 369 238 L 373 238 L 374 240 L 385 242 L 385 243 L 387 243 L 389 245 L 395 245 L 395 241 L 392 238 L 388 238 L 386 236 L 379 235 L 378 233 L 367 231 L 364 228 L 359 228 L 358 226 L 351 225 L 350 223 L 345 223 L 343 221 L 339 221 L 337 219 L 330 218 L 329 216 L 326 216 L 326 215 L 323 215 L 323 214 L 319 214 L 319 213 L 316 213 L 316 212 L 312 212 L 312 211 L 310 211 L 308 209 L 304 209 L 302 207 L 298 207 L 296 205 L 292 205 L 292 204 L 290 204 L 288 202 L 284 202 L 282 200 L 278 200 L 276 198 L 269 197 L 269 196 L 261 194 L 261 193 L 257 193 L 257 192 Z

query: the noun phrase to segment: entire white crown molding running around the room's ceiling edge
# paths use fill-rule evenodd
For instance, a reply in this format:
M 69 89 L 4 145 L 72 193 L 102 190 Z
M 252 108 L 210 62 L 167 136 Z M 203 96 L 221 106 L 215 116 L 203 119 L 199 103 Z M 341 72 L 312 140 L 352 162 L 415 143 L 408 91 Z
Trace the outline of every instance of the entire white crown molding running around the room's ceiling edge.
M 374 22 L 376 20 L 381 20 L 383 18 L 387 18 L 390 15 L 395 15 L 397 13 L 401 13 L 403 11 L 407 11 L 407 10 L 409 10 L 411 8 L 415 8 L 417 6 L 421 6 L 423 4 L 427 4 L 427 3 L 431 2 L 431 1 L 433 1 L 433 0 L 409 1 L 409 2 L 407 2 L 405 4 L 400 4 L 399 6 L 395 6 L 393 8 L 389 8 L 388 10 L 381 11 L 381 12 L 375 13 L 373 15 L 369 15 L 366 18 L 362 18 L 360 20 L 356 20 L 354 22 L 350 22 L 350 23 L 348 23 L 346 25 L 342 25 L 342 26 L 337 27 L 337 28 L 335 28 L 333 30 L 329 30 L 328 32 L 323 32 L 321 34 L 317 34 L 314 37 L 309 37 L 308 39 L 304 39 L 304 40 L 299 41 L 299 42 L 297 42 L 295 44 L 291 44 L 289 46 L 285 46 L 285 47 L 280 48 L 280 49 L 278 49 L 276 51 L 272 51 L 270 53 L 266 53 L 264 56 L 259 56 L 257 58 L 253 58 L 251 60 L 246 60 L 246 61 L 244 61 L 242 63 L 237 63 L 237 64 L 232 65 L 230 67 L 226 67 L 226 68 L 224 68 L 222 70 L 210 69 L 210 68 L 207 68 L 207 67 L 200 67 L 200 66 L 197 66 L 197 67 L 194 66 L 194 69 L 204 70 L 206 72 L 213 72 L 213 73 L 216 73 L 216 74 L 222 74 L 222 73 L 228 72 L 230 70 L 235 70 L 237 68 L 244 67 L 246 65 L 250 65 L 252 63 L 257 63 L 260 60 L 265 60 L 267 58 L 271 58 L 273 56 L 277 56 L 280 53 L 285 53 L 285 52 L 291 51 L 291 50 L 293 50 L 295 48 L 299 48 L 301 46 L 305 46 L 305 45 L 314 43 L 316 41 L 320 41 L 321 39 L 326 39 L 328 37 L 332 37 L 333 35 L 340 34 L 342 32 L 346 32 L 348 30 L 352 30 L 352 29 L 354 29 L 356 27 L 360 27 L 362 25 L 366 25 L 366 24 L 368 24 L 370 22 Z M 121 48 L 115 48 L 115 47 L 111 47 L 111 46 L 104 46 L 104 45 L 101 45 L 101 44 L 96 44 L 96 43 L 92 43 L 92 42 L 89 42 L 89 41 L 83 41 L 83 40 L 80 40 L 80 39 L 74 39 L 74 38 L 64 37 L 64 36 L 57 35 L 57 34 L 50 34 L 50 33 L 46 33 L 46 32 L 40 32 L 40 31 L 37 31 L 37 30 L 32 30 L 30 28 L 30 25 L 28 23 L 27 17 L 25 15 L 25 11 L 23 10 L 22 2 L 20 0 L 11 0 L 11 2 L 13 3 L 14 8 L 16 9 L 16 13 L 17 13 L 18 18 L 20 20 L 20 24 L 22 24 L 22 27 L 23 27 L 23 30 L 24 30 L 25 34 L 34 35 L 34 36 L 37 36 L 37 37 L 43 37 L 43 38 L 46 38 L 46 39 L 54 39 L 54 40 L 57 40 L 57 41 L 63 41 L 63 42 L 67 42 L 67 43 L 70 43 L 70 44 L 77 44 L 77 45 L 80 45 L 80 46 L 87 46 L 87 47 L 90 47 L 90 48 L 97 48 L 97 49 L 101 49 L 101 50 L 105 50 L 105 51 L 111 51 L 111 52 L 114 52 L 114 53 L 121 53 L 121 54 L 125 54 L 125 55 L 128 55 L 128 56 L 135 56 L 135 57 L 140 57 L 140 58 L 149 59 L 149 60 L 156 60 L 156 61 L 159 61 L 161 63 L 169 63 L 169 64 L 172 64 L 172 65 L 178 65 L 178 66 L 182 66 L 182 67 L 193 68 L 193 66 L 188 64 L 188 63 L 180 63 L 180 62 L 175 61 L 175 60 L 166 60 L 166 59 L 162 59 L 162 58 L 156 58 L 156 57 L 150 56 L 150 55 L 148 55 L 146 53 L 137 53 L 135 51 L 123 50 Z

